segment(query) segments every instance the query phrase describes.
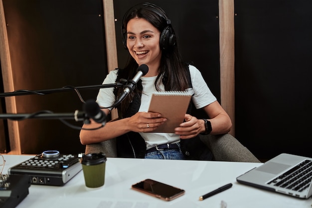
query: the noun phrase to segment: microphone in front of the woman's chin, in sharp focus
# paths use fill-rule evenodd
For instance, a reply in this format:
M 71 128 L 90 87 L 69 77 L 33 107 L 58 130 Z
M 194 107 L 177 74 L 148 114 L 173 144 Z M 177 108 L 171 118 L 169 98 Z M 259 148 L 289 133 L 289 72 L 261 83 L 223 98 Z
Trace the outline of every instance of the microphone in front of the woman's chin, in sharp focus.
M 146 64 L 142 64 L 138 67 L 136 76 L 134 76 L 132 80 L 129 80 L 128 83 L 124 86 L 124 91 L 120 93 L 114 106 L 119 105 L 127 97 L 127 95 L 130 94 L 137 87 L 139 79 L 142 76 L 146 75 L 148 71 L 149 67 Z

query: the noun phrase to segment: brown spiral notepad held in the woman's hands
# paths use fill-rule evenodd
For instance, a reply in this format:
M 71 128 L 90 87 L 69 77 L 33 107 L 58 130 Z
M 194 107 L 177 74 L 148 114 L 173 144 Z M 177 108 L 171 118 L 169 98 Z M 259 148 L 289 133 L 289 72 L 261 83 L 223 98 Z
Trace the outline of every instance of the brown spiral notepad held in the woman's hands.
M 152 94 L 149 112 L 160 113 L 167 121 L 153 132 L 174 133 L 184 121 L 192 94 L 188 91 L 166 91 Z

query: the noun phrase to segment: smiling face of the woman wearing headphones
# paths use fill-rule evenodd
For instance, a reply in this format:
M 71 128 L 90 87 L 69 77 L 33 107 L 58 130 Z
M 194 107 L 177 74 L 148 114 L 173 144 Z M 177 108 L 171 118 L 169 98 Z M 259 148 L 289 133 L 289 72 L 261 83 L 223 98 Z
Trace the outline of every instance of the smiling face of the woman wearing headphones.
M 130 19 L 127 24 L 127 47 L 139 65 L 147 64 L 147 76 L 156 76 L 161 59 L 159 30 L 144 18 Z

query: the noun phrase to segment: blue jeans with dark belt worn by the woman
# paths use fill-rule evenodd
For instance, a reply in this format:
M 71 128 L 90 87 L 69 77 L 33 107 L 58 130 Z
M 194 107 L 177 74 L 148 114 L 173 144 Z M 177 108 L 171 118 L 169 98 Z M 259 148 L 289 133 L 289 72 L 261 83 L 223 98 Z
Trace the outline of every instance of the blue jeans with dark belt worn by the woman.
M 184 160 L 184 155 L 179 149 L 164 149 L 147 153 L 145 159 Z

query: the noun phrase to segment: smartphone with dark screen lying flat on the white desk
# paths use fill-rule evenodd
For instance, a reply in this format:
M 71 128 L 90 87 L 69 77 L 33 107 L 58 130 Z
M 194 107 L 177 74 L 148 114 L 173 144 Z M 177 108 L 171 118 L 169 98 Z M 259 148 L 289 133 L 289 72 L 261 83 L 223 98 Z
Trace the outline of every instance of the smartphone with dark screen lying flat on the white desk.
M 132 189 L 165 201 L 174 200 L 185 193 L 185 191 L 182 189 L 172 187 L 152 179 L 146 179 L 137 184 L 134 184 L 132 185 Z

